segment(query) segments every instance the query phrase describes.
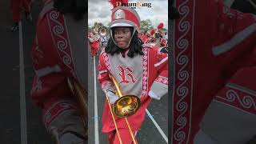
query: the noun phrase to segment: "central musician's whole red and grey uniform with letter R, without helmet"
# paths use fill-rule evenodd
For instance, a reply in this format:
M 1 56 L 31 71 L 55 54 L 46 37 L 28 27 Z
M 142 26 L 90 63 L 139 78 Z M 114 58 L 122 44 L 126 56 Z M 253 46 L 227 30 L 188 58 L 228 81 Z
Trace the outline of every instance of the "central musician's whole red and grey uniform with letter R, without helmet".
M 150 104 L 151 100 L 148 94 L 155 94 L 158 98 L 161 98 L 168 92 L 167 55 L 148 46 L 143 47 L 143 53 L 144 55 L 136 55 L 134 58 L 130 58 L 126 55 L 126 51 L 125 58 L 123 58 L 122 54 L 110 55 L 102 50 L 98 64 L 98 81 L 103 91 L 114 90 L 113 83 L 109 78 L 109 74 L 112 74 L 121 86 L 123 94 L 134 94 L 141 99 L 139 110 L 128 117 L 134 133 L 138 131 L 145 118 L 146 106 Z M 126 140 L 123 140 L 123 142 L 130 143 L 131 138 L 130 134 L 126 135 L 127 126 L 124 118 L 115 117 L 115 120 L 119 130 L 124 130 L 121 138 Z M 104 106 L 102 124 L 102 131 L 109 133 L 110 137 L 110 132 L 115 128 L 107 102 Z M 116 137 L 111 142 L 118 143 L 118 138 Z

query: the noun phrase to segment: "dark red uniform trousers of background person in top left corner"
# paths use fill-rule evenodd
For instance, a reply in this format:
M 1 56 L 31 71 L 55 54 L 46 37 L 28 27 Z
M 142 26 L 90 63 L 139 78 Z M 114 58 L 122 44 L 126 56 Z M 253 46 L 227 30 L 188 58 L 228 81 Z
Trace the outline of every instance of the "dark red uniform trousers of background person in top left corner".
M 11 11 L 13 13 L 13 21 L 19 22 L 22 18 L 22 8 L 27 13 L 30 13 L 31 0 L 11 0 Z

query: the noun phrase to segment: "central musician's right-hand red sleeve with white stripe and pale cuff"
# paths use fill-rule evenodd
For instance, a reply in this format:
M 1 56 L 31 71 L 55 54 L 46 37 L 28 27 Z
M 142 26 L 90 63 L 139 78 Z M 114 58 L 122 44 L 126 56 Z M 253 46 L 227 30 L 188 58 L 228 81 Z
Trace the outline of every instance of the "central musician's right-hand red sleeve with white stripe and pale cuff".
M 168 56 L 158 50 L 154 50 L 154 68 L 157 70 L 158 77 L 150 88 L 151 98 L 160 99 L 168 93 Z

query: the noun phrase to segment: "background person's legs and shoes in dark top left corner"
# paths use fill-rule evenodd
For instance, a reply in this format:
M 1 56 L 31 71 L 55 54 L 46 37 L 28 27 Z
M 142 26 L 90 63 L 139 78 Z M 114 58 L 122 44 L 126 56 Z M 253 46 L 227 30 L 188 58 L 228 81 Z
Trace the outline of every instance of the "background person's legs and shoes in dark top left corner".
M 10 5 L 11 5 L 11 11 L 13 13 L 13 21 L 14 21 L 14 26 L 11 26 L 10 28 L 11 31 L 18 30 L 18 22 L 22 18 L 22 8 L 25 9 L 26 20 L 28 20 L 29 22 L 32 22 L 32 16 L 30 14 L 31 0 L 11 0 Z

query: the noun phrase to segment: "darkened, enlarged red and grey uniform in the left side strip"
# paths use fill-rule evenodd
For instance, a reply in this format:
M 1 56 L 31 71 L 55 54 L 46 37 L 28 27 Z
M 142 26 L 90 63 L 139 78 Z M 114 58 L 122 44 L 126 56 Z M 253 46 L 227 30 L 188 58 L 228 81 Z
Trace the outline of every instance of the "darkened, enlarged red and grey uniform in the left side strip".
M 31 52 L 35 72 L 32 99 L 42 109 L 43 122 L 47 130 L 50 131 L 51 126 L 56 126 L 59 130 L 63 128 L 76 131 L 78 134 L 86 134 L 81 122 L 76 121 L 74 124 L 68 118 L 79 118 L 79 114 L 76 100 L 67 84 L 68 77 L 84 83 L 73 50 L 80 45 L 86 47 L 85 31 L 79 32 L 78 30 L 83 30 L 83 25 L 80 26 L 79 22 L 74 22 L 70 17 L 59 13 L 53 4 L 53 1 L 47 1 L 38 17 L 37 34 Z M 74 37 L 73 33 L 81 37 Z M 80 53 L 85 55 L 86 50 Z M 83 60 L 86 62 L 86 58 Z M 57 121 L 59 118 L 62 119 L 62 123 Z

